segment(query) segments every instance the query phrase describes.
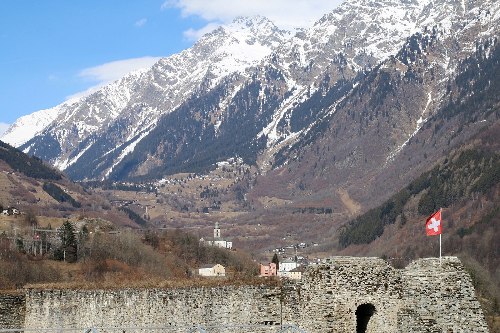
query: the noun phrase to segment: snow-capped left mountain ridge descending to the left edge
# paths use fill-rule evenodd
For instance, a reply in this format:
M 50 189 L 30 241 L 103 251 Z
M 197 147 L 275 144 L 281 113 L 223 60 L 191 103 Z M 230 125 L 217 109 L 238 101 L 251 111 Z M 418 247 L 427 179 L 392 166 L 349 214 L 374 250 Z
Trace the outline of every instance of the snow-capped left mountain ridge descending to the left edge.
M 79 101 L 21 117 L 2 139 L 19 146 L 35 134 L 49 135 L 52 143 L 57 141 L 60 153 L 45 157 L 63 169 L 74 162 L 68 156 L 89 135 L 124 118 L 127 128 L 122 137 L 126 142 L 154 126 L 158 116 L 191 94 L 206 91 L 230 72 L 255 65 L 289 37 L 291 32 L 278 29 L 263 16 L 237 18 L 205 34 L 192 47 L 161 58 L 151 68 L 135 70 Z M 27 125 L 29 130 L 25 130 Z M 34 143 L 26 145 L 26 152 L 43 155 Z

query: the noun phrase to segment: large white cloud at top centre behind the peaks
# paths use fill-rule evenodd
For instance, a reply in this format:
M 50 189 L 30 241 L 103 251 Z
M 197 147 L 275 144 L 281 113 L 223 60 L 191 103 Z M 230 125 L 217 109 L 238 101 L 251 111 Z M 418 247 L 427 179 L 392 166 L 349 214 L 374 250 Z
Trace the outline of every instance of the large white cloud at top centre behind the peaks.
M 182 17 L 197 16 L 213 24 L 228 23 L 235 17 L 263 15 L 280 29 L 310 27 L 323 14 L 330 12 L 342 0 L 167 0 L 161 9 L 179 8 Z M 201 31 L 208 30 L 208 25 L 200 30 L 189 29 L 186 36 L 201 36 Z M 198 33 L 196 33 L 198 32 Z

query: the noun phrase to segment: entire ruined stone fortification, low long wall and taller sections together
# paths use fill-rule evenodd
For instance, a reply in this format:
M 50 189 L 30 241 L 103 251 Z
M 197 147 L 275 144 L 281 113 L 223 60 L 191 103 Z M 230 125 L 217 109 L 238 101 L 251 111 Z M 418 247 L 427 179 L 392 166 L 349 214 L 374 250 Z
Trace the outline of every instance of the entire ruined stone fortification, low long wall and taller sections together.
M 0 328 L 294 323 L 307 333 L 487 332 L 469 276 L 456 257 L 397 270 L 379 258 L 331 257 L 283 286 L 25 290 L 0 294 Z M 364 305 L 363 305 L 364 306 Z

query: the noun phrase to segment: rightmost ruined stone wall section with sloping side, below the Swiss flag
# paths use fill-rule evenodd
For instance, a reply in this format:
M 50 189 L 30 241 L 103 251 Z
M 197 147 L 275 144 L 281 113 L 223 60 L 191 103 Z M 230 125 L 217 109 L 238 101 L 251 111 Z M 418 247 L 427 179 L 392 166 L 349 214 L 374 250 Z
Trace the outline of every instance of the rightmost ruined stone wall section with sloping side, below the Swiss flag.
M 456 257 L 421 258 L 403 271 L 398 332 L 422 326 L 436 332 L 487 332 L 470 276 Z

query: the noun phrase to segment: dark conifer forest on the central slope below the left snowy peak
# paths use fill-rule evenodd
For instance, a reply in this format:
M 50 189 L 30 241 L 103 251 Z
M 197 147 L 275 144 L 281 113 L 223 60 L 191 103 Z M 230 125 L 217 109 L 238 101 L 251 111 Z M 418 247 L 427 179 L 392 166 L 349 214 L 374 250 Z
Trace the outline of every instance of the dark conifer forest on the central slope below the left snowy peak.
M 267 141 L 265 135 L 259 137 L 257 134 L 291 92 L 281 91 L 284 78 L 277 69 L 260 68 L 221 109 L 221 100 L 227 98 L 233 80 L 237 79 L 238 75 L 235 75 L 201 96 L 193 95 L 176 110 L 165 114 L 135 149 L 113 167 L 109 179 L 158 179 L 181 171 L 205 173 L 215 162 L 234 156 L 255 164 L 257 154 Z M 273 82 L 280 82 L 280 85 Z M 113 124 L 109 130 L 114 131 L 117 126 L 120 124 Z M 95 177 L 110 166 L 112 158 L 109 156 L 116 157 L 119 149 L 110 152 L 111 155 L 99 155 L 101 147 L 119 141 L 109 133 L 86 139 L 98 144 L 93 144 L 93 148 L 80 157 L 88 163 L 78 169 L 68 167 L 68 175 L 78 179 Z M 151 157 L 158 161 L 157 166 L 150 167 L 146 175 L 133 176 L 137 168 Z

